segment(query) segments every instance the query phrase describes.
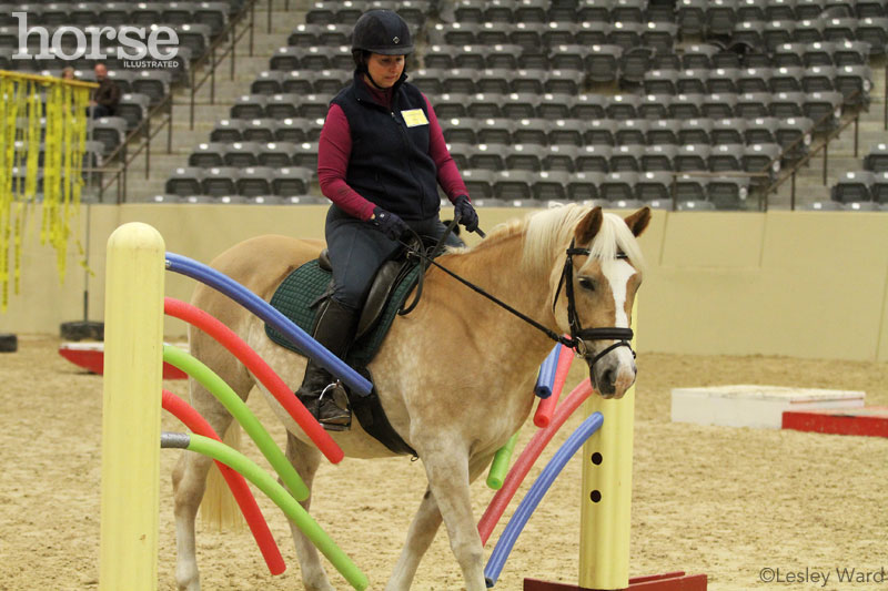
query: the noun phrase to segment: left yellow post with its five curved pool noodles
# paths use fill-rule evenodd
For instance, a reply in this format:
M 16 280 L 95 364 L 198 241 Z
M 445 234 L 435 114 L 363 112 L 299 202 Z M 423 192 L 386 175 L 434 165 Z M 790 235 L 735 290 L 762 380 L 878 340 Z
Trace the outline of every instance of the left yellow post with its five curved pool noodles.
M 175 347 L 161 347 L 164 308 L 169 315 L 190 322 L 214 336 L 244 363 L 331 461 L 340 461 L 342 450 L 304 407 L 294 403 L 292 393 L 280 377 L 240 337 L 193 306 L 172 298 L 164 300 L 164 268 L 196 278 L 241 303 L 274 325 L 355 390 L 367 393 L 371 388 L 367 380 L 252 292 L 205 265 L 164 253 L 163 238 L 153 227 L 142 223 L 119 227 L 108 241 L 100 589 L 139 591 L 157 585 L 160 496 L 158 437 L 161 436 L 162 406 L 195 432 L 193 436 L 167 436 L 161 439 L 167 447 L 192 449 L 233 468 L 231 471 L 223 470 L 223 476 L 235 493 L 235 500 L 272 574 L 283 572 L 285 565 L 245 486 L 244 476 L 284 510 L 352 587 L 366 589 L 370 584 L 366 577 L 296 501 L 307 496 L 307 489 L 243 401 L 213 371 L 190 355 Z M 162 393 L 163 360 L 185 369 L 226 406 L 256 441 L 290 489 L 289 492 L 264 470 L 218 441 L 218 435 L 212 429 L 208 430 L 209 426 L 202 417 L 184 401 L 171 393 Z M 143 469 L 133 470 L 133 465 Z

